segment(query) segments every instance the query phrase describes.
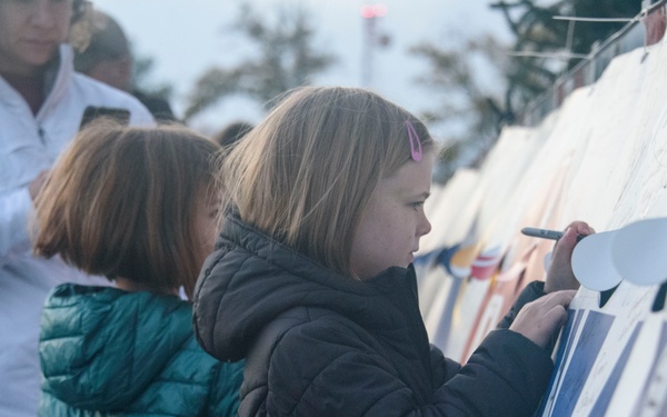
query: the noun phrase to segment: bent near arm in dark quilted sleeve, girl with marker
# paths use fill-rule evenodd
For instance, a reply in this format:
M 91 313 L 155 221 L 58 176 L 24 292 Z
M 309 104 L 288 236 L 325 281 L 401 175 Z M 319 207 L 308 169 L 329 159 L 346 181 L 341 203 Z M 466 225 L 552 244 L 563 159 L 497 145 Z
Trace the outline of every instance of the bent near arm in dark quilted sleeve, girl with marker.
M 409 361 L 418 359 L 396 360 L 406 361 L 400 371 L 377 346 L 344 326 L 293 328 L 280 338 L 269 360 L 267 414 L 529 417 L 554 366 L 544 349 L 509 330 L 487 337 L 456 373 L 456 364 L 444 359 L 448 368 L 436 378 L 449 378 L 439 387 L 425 381 L 422 393 L 415 393 L 400 374 L 410 373 Z M 425 394 L 430 400 L 424 400 Z

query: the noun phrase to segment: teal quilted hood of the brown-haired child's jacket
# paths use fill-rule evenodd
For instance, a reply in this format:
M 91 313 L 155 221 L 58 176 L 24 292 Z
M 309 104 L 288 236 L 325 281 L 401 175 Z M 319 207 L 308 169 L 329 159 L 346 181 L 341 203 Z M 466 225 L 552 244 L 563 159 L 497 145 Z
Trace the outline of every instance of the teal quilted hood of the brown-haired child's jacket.
M 190 304 L 176 296 L 66 284 L 44 305 L 42 388 L 80 408 L 129 404 L 192 335 Z

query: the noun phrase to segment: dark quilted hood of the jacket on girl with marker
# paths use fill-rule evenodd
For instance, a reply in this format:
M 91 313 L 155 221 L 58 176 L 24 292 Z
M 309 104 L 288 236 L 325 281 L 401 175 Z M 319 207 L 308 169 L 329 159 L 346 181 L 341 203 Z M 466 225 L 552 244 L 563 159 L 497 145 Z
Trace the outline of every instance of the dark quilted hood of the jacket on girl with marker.
M 402 302 L 406 291 L 417 297 L 411 266 L 358 281 L 229 216 L 195 289 L 195 332 L 212 356 L 239 360 L 267 324 L 297 307 L 329 309 L 364 327 L 394 331 L 406 318 L 388 304 Z

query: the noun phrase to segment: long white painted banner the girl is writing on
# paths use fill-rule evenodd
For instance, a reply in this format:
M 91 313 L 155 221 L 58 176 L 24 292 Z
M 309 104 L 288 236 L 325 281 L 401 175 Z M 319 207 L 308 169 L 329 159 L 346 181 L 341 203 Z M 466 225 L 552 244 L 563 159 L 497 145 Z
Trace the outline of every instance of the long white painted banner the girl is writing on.
M 660 8 L 651 18 L 664 22 Z M 427 262 L 416 260 L 420 309 L 431 342 L 460 361 L 526 284 L 545 278 L 555 241 L 517 236 L 522 227 L 583 220 L 598 231 L 575 248 L 581 288 L 536 416 L 667 416 L 667 44 L 655 38 L 537 126 L 504 129 L 475 181 L 444 190 L 438 206 L 449 210 L 429 211 L 442 235 L 425 240 Z

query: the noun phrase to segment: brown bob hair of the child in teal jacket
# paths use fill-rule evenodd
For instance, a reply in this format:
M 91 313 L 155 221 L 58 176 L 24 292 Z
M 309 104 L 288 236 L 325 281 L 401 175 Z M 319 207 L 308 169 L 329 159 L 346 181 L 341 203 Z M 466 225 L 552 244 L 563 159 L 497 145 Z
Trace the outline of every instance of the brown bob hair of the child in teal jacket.
M 36 254 L 191 297 L 203 264 L 195 214 L 202 198 L 219 199 L 219 149 L 182 126 L 90 123 L 37 198 Z

